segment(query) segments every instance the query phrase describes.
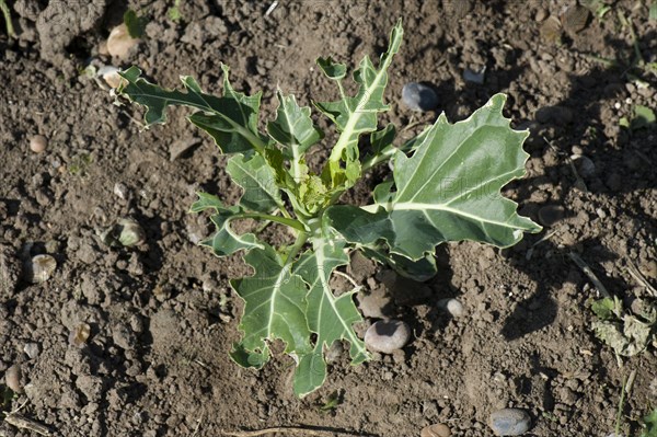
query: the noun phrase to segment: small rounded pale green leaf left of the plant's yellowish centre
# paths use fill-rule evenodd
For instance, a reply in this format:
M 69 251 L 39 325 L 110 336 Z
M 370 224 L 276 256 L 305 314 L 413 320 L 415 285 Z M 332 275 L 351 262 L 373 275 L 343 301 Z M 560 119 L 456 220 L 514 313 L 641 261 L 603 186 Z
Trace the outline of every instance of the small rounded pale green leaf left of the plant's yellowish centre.
M 276 208 L 285 208 L 276 185 L 276 174 L 262 156 L 245 158 L 235 154 L 228 160 L 226 171 L 244 189 L 240 205 L 245 209 L 270 212 Z

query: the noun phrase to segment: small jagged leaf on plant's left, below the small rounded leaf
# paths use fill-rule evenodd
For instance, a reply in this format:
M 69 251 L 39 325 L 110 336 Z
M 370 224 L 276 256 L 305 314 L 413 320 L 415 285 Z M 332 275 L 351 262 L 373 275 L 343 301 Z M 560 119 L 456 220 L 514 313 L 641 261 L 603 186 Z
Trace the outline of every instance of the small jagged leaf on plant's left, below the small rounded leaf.
M 247 214 L 239 206 L 224 207 L 217 196 L 207 193 L 197 193 L 198 200 L 192 205 L 191 212 L 200 212 L 205 209 L 214 209 L 216 212 L 210 220 L 217 228 L 216 232 L 200 245 L 208 246 L 217 256 L 228 256 L 242 249 L 264 249 L 264 244 L 257 241 L 253 233 L 238 234 L 230 227 L 230 221 L 247 217 Z

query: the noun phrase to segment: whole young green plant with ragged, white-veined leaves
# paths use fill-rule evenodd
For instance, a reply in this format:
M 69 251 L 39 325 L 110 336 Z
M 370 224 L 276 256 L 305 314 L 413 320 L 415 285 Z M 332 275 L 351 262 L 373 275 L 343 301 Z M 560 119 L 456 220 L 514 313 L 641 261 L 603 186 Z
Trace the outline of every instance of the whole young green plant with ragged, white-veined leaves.
M 226 171 L 243 188 L 237 205 L 199 193 L 193 212 L 211 210 L 216 232 L 201 244 L 218 256 L 244 251 L 254 275 L 231 283 L 244 300 L 242 340 L 231 352 L 245 367 L 269 359 L 269 342 L 281 340 L 293 357 L 293 388 L 303 396 L 326 379 L 324 349 L 347 341 L 351 364 L 370 358 L 354 323 L 361 320 L 353 292 L 336 296 L 332 273 L 361 250 L 397 272 L 426 280 L 436 273 L 434 251 L 448 241 L 471 240 L 506 248 L 523 232 L 541 228 L 517 214 L 517 204 L 500 194 L 511 180 L 525 175 L 527 131 L 510 128 L 503 116 L 504 94 L 494 95 L 463 122 L 450 124 L 445 114 L 414 139 L 393 145 L 395 127 L 379 129 L 388 68 L 402 43 L 401 21 L 393 27 L 388 50 L 377 66 L 365 57 L 353 77 L 357 92 L 349 95 L 343 81 L 347 67 L 319 58 L 322 72 L 339 99 L 314 102 L 336 127 L 337 139 L 321 172 L 309 169 L 309 148 L 324 138 L 309 107 L 293 95 L 277 92 L 276 118 L 258 130 L 261 93 L 235 91 L 223 69 L 223 93 L 206 94 L 191 77 L 184 91 L 148 82 L 137 67 L 122 72 L 120 95 L 146 106 L 146 124 L 165 123 L 168 106 L 196 111 L 189 120 L 209 134 L 222 153 L 230 154 Z M 361 158 L 359 142 L 370 137 Z M 374 187 L 370 205 L 341 205 L 341 195 L 374 165 L 393 162 L 392 177 Z M 290 227 L 293 244 L 274 248 L 254 233 L 239 233 L 231 222 L 260 219 Z

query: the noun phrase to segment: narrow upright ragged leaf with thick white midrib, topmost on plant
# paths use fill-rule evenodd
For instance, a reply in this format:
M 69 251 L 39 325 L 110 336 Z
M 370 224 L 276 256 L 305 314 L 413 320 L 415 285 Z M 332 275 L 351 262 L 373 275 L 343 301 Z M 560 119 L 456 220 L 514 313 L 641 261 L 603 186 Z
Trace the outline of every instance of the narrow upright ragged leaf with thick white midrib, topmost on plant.
M 389 106 L 383 103 L 383 92 L 388 84 L 388 67 L 400 49 L 402 36 L 400 21 L 392 30 L 388 50 L 381 55 L 378 69 L 367 56 L 360 61 L 359 68 L 354 72 L 354 81 L 358 84 L 355 96 L 347 96 L 342 85 L 346 74 L 345 66 L 334 64 L 331 58 L 318 59 L 322 71 L 337 82 L 341 92 L 338 101 L 315 103 L 315 106 L 335 123 L 341 133 L 323 172 L 325 179 L 331 180 L 333 187 L 345 182 L 346 187 L 353 186 L 360 176 L 358 138 L 361 134 L 377 130 L 378 113 L 389 110 Z M 345 163 L 344 169 L 341 168 L 341 162 Z

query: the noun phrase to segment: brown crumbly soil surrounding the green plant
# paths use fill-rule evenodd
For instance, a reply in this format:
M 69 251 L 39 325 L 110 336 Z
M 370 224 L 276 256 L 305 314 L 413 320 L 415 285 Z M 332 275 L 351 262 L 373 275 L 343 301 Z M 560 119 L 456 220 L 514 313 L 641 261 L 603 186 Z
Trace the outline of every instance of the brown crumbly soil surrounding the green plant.
M 567 20 L 556 30 L 544 25 L 575 3 L 561 0 L 195 0 L 181 2 L 177 22 L 168 16 L 173 1 L 154 0 L 129 4 L 150 22 L 118 60 L 101 46 L 120 23 L 124 1 L 9 1 L 18 37 L 0 35 L 0 375 L 20 366 L 23 393 L 4 410 L 23 405 L 24 417 L 57 436 L 306 426 L 326 436 L 395 437 L 418 436 L 434 423 L 454 436 L 489 436 L 493 411 L 520 407 L 532 417 L 527 435 L 607 436 L 635 370 L 621 430 L 638 435 L 638 418 L 657 406 L 657 350 L 619 366 L 591 329 L 590 299 L 599 291 L 569 256 L 578 254 L 626 303 L 649 296 L 633 265 L 657 286 L 657 129 L 620 126 L 635 105 L 657 110 L 655 73 L 632 66 L 635 49 L 657 61 L 657 22 L 646 1 L 607 2 L 610 11 L 588 14 L 578 31 Z M 227 355 L 242 310 L 229 279 L 250 271 L 240 256 L 216 258 L 198 246 L 210 227 L 206 216 L 187 214 L 198 189 L 239 197 L 224 158 L 186 122 L 186 111 L 142 131 L 138 108 L 114 105 L 107 87 L 80 71 L 90 62 L 134 64 L 163 85 L 193 74 L 218 92 L 224 62 L 235 89 L 263 91 L 264 123 L 276 87 L 304 105 L 311 96 L 334 99 L 315 58 L 354 66 L 376 57 L 399 16 L 404 44 L 382 123 L 412 125 L 404 131 L 411 136 L 441 111 L 462 119 L 494 93 L 508 93 L 506 114 L 530 129 L 531 158 L 528 176 L 504 193 L 534 220 L 544 206 L 564 214 L 553 208 L 543 217 L 550 226 L 512 249 L 442 245 L 440 272 L 424 284 L 358 260 L 351 273 L 365 295 L 388 302 L 383 314 L 406 321 L 414 338 L 358 367 L 333 350 L 325 386 L 299 400 L 290 358 L 277 354 L 252 371 Z M 484 67 L 483 84 L 462 79 L 465 69 Z M 410 81 L 435 88 L 437 112 L 418 115 L 401 103 Z M 30 150 L 34 135 L 48 138 L 45 152 Z M 193 147 L 172 160 L 185 143 Z M 365 179 L 347 200 L 368 202 L 387 171 Z M 125 217 L 143 227 L 147 242 L 104 244 L 99 232 Z M 28 284 L 22 265 L 41 253 L 58 267 L 49 280 Z M 465 315 L 441 310 L 439 301 L 451 297 Z M 338 404 L 324 411 L 333 393 Z M 9 422 L 0 436 L 36 435 Z

